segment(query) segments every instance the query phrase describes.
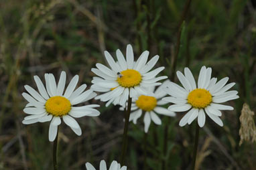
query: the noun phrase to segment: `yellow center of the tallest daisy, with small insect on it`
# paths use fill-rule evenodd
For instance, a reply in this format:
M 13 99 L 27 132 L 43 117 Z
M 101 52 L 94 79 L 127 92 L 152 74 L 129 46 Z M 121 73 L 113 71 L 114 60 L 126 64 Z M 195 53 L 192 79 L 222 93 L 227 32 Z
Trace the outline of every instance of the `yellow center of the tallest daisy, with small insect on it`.
M 131 88 L 139 85 L 141 74 L 136 70 L 124 70 L 119 74 L 117 82 L 124 88 Z

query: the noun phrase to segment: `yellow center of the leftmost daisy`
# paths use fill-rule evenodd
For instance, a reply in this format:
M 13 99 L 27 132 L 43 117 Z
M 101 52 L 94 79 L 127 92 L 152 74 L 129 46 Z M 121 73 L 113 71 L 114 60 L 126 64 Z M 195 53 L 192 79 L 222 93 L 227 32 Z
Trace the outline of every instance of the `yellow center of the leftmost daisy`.
M 64 116 L 70 109 L 70 101 L 62 96 L 54 96 L 46 101 L 46 111 L 54 116 Z

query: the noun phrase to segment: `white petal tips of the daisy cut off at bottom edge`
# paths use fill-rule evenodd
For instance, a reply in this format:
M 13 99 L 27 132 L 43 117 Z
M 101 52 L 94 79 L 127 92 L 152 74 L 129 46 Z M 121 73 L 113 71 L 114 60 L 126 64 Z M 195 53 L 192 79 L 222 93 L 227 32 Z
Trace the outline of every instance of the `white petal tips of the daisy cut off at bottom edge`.
M 90 163 L 86 163 L 85 166 L 86 166 L 86 170 L 96 170 Z M 109 170 L 126 170 L 126 169 L 127 169 L 126 166 L 121 167 L 120 163 L 117 163 L 117 161 L 113 161 L 109 167 Z M 104 160 L 101 161 L 99 170 L 108 170 L 106 162 Z

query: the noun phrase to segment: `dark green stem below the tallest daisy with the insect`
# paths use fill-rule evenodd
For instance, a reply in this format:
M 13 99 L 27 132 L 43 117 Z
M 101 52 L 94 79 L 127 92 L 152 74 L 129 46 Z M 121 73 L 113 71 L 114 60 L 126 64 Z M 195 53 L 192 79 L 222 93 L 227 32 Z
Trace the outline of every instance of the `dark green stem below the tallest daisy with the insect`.
M 129 96 L 127 112 L 125 112 L 125 128 L 123 129 L 123 145 L 122 145 L 122 153 L 121 153 L 121 161 L 120 161 L 121 166 L 123 166 L 125 163 L 125 155 L 127 151 L 127 131 L 128 131 L 130 114 L 131 114 L 131 98 Z

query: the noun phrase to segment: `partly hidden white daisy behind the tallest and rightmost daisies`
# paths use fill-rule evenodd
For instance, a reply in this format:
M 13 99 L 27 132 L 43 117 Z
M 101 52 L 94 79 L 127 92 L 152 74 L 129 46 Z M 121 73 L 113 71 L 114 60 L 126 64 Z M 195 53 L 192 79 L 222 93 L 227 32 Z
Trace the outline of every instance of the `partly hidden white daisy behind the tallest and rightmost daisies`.
M 156 90 L 155 86 L 147 88 L 147 90 L 151 92 L 150 96 L 141 95 L 133 98 L 133 103 L 131 104 L 131 110 L 133 112 L 131 112 L 129 121 L 132 120 L 134 124 L 137 124 L 137 119 L 140 118 L 142 114 L 144 114 L 143 122 L 145 124 L 145 133 L 148 132 L 151 120 L 155 124 L 162 124 L 162 120 L 159 118 L 159 116 L 157 116 L 157 114 L 162 114 L 166 116 L 176 115 L 175 112 L 172 112 L 162 106 L 168 103 L 164 100 L 161 100 L 164 96 L 167 95 L 164 88 L 166 87 L 166 84 L 168 84 L 168 82 L 170 81 L 166 80 Z M 123 107 L 121 107 L 120 109 L 124 110 Z

